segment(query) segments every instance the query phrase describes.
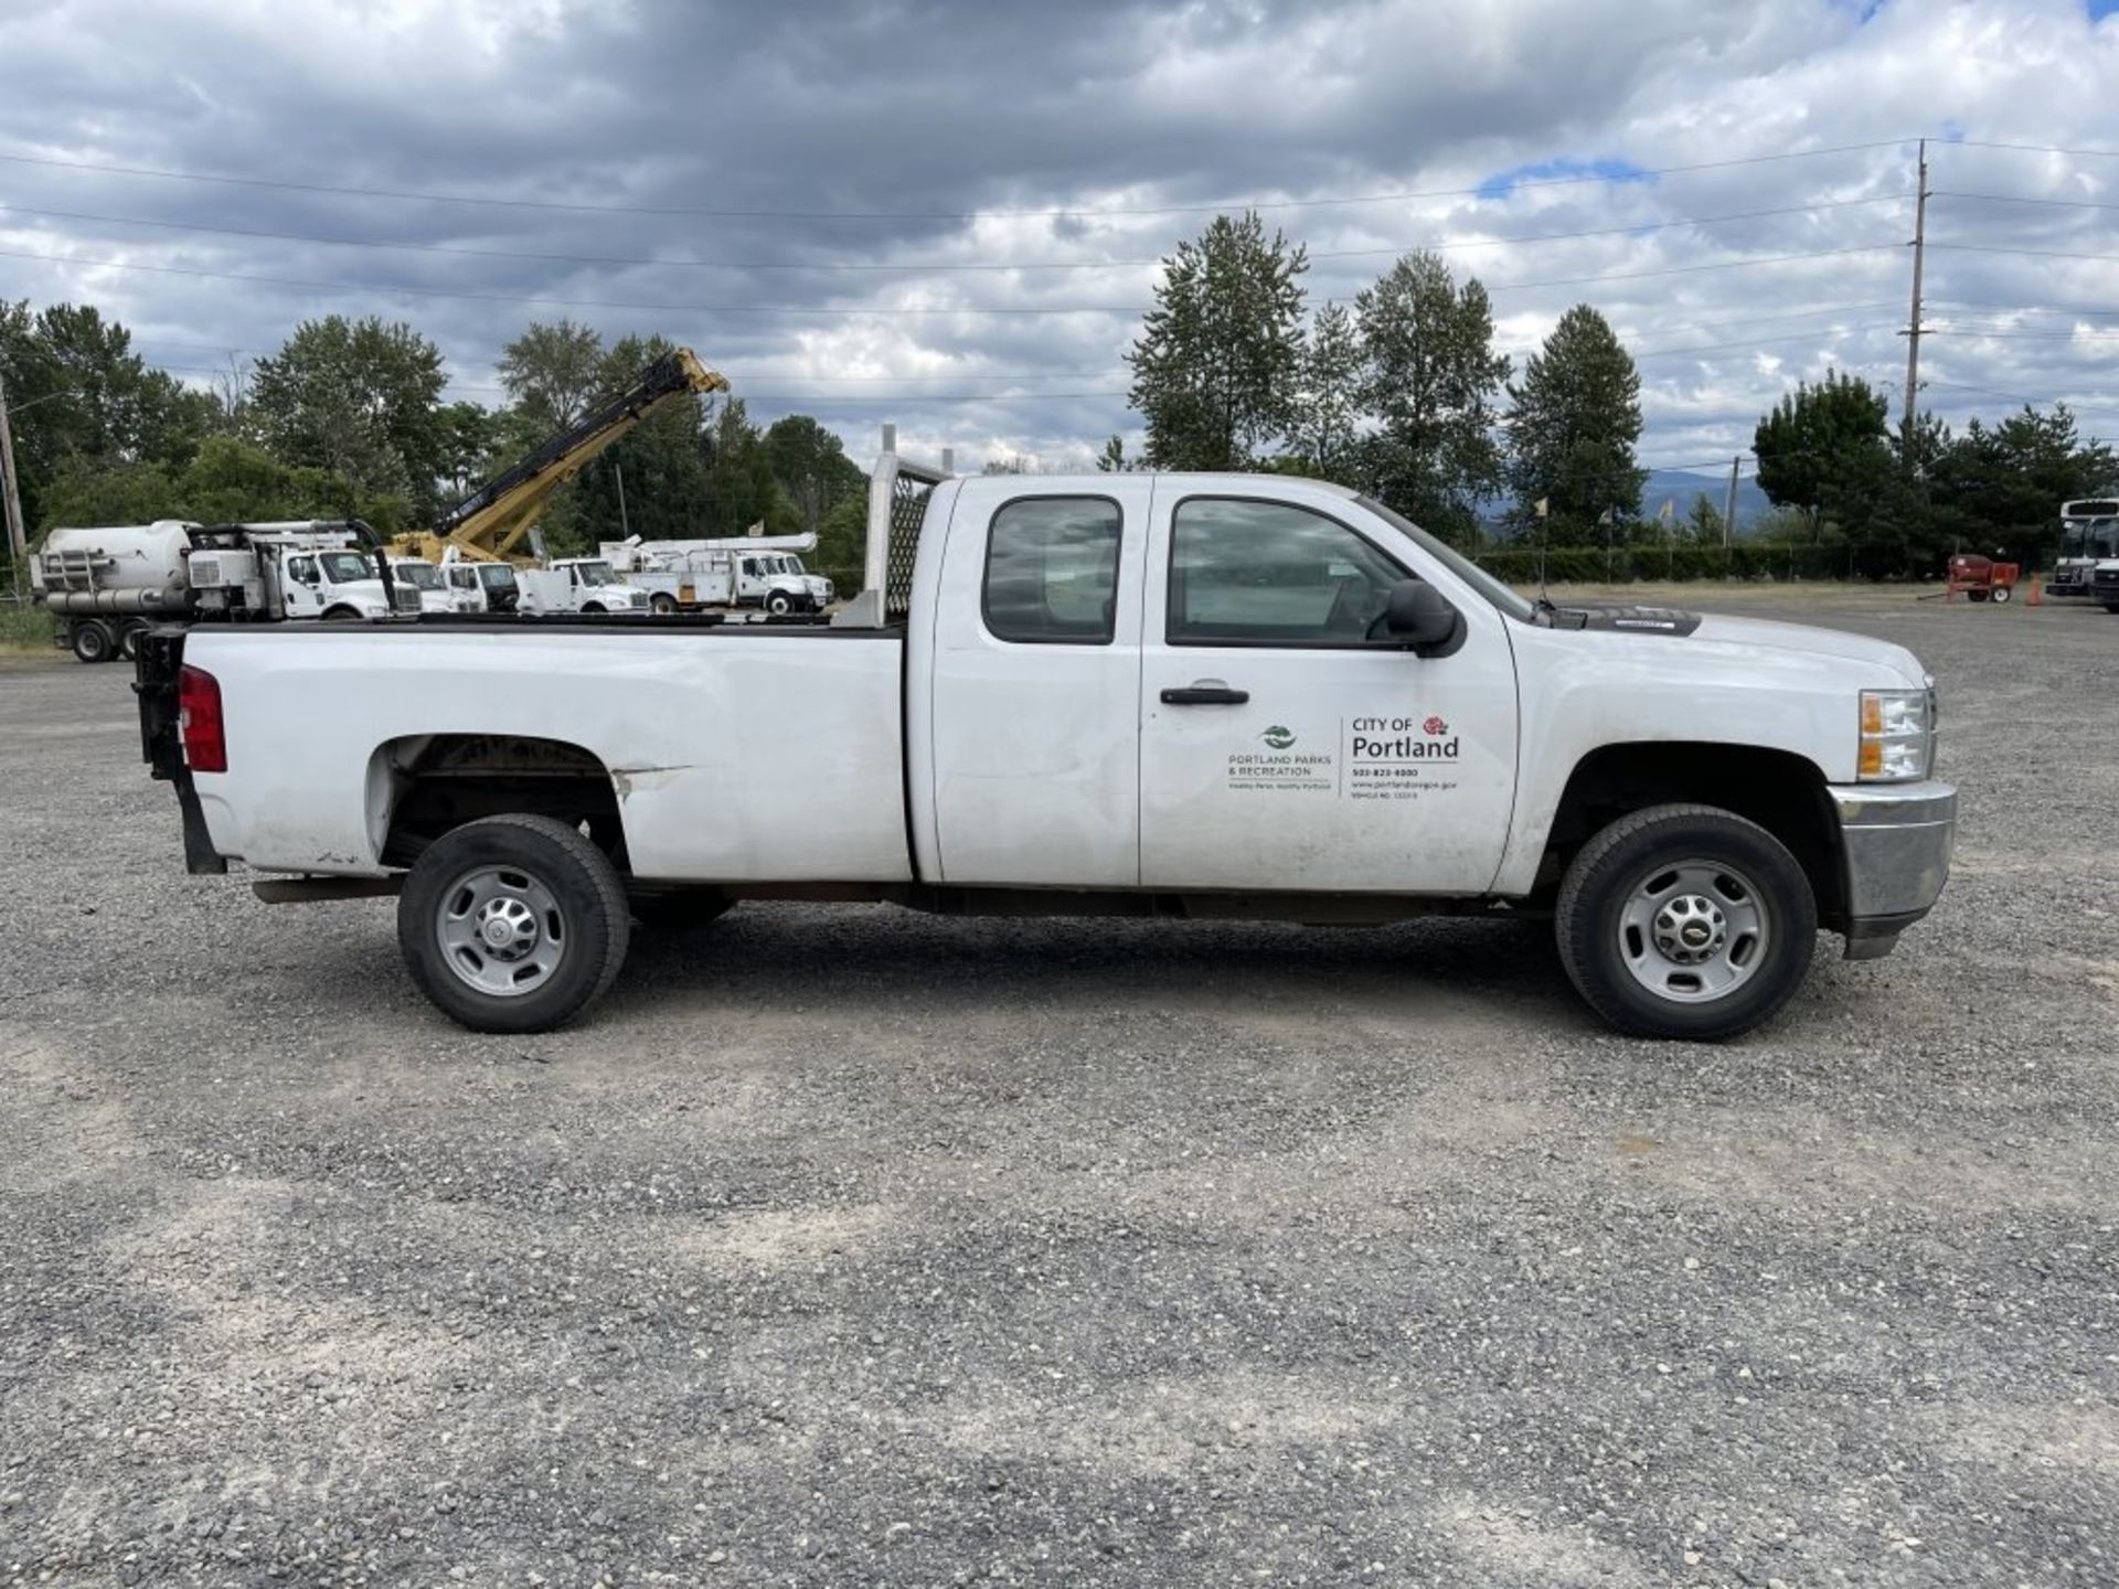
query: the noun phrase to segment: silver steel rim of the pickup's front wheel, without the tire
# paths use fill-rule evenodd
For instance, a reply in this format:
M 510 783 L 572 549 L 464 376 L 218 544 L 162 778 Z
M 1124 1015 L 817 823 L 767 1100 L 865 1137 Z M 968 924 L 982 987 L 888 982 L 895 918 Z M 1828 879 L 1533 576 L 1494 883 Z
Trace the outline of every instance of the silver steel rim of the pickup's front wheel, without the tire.
M 1651 867 L 1619 907 L 1619 960 L 1627 975 L 1674 1004 L 1712 1004 L 1757 977 L 1771 947 L 1759 886 L 1723 860 Z

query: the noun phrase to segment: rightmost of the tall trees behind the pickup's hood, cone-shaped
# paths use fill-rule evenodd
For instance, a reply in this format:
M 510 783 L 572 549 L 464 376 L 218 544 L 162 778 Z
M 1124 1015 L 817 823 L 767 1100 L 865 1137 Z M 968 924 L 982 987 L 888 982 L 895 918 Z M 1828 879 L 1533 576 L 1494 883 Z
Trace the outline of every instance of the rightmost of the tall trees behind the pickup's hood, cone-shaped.
M 1649 472 L 1634 458 L 1640 441 L 1640 371 L 1610 322 L 1577 303 L 1509 383 L 1515 403 L 1507 479 L 1517 515 L 1551 504 L 1551 538 L 1600 540 L 1606 515 L 1640 513 Z

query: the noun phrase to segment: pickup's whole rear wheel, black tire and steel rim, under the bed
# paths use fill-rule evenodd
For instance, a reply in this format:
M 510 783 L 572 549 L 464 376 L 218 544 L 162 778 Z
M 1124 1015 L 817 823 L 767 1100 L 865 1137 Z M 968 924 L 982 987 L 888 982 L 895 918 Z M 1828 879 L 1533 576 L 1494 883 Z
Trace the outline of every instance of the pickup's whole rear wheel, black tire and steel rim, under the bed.
M 398 894 L 405 966 L 473 1032 L 549 1032 L 604 996 L 631 917 L 610 858 L 549 816 L 451 828 Z

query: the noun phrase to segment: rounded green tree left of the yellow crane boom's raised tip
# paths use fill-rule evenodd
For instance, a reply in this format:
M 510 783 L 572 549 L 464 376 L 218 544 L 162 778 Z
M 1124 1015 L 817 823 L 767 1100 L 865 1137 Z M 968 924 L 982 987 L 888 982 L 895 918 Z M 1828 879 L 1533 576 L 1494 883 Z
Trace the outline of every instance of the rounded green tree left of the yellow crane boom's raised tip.
M 430 517 L 445 472 L 441 350 L 403 322 L 326 316 L 261 358 L 250 422 L 267 451 L 396 494 Z

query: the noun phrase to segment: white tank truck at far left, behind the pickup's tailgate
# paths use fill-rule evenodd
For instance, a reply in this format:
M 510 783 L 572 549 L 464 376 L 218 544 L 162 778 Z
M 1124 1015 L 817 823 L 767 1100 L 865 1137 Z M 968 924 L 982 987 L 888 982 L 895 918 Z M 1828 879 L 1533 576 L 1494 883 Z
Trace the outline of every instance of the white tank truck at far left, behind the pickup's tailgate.
M 390 595 L 375 536 L 354 521 L 201 525 L 189 519 L 53 530 L 30 585 L 81 661 L 131 657 L 150 623 L 197 619 L 379 619 Z M 420 612 L 411 587 L 398 610 Z

